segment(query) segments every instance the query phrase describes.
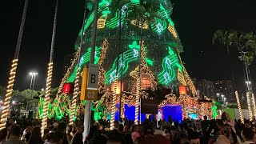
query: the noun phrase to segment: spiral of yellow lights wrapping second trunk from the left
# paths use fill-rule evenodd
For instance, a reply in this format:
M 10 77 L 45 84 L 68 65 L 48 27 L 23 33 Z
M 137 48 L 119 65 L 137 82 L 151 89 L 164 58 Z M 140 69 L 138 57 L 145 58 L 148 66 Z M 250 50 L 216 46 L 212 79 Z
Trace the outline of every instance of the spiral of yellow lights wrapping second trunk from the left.
M 44 134 L 44 130 L 47 128 L 47 115 L 48 115 L 48 103 L 50 102 L 50 85 L 53 75 L 53 67 L 54 63 L 50 62 L 48 64 L 48 72 L 47 72 L 47 82 L 46 82 L 46 95 L 43 102 L 43 116 L 42 116 L 42 136 Z

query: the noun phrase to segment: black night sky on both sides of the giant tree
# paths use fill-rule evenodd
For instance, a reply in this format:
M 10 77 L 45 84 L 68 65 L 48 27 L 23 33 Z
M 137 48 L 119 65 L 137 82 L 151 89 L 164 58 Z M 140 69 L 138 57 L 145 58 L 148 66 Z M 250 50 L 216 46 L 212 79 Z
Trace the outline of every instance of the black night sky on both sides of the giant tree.
M 18 38 L 25 0 L 1 2 L 0 38 L 0 85 L 6 86 L 10 62 Z M 50 56 L 50 41 L 54 20 L 54 0 L 30 0 L 18 74 L 14 89 L 24 90 L 30 86 L 29 72 L 38 72 L 35 88 L 41 90 L 46 84 L 46 69 Z M 182 59 L 191 78 L 210 80 L 230 79 L 234 72 L 238 89 L 243 89 L 242 64 L 237 51 L 226 54 L 224 46 L 213 45 L 212 36 L 218 29 L 234 29 L 245 32 L 256 29 L 256 1 L 254 0 L 176 0 L 174 20 L 185 52 Z M 63 74 L 64 55 L 74 53 L 74 40 L 82 26 L 83 0 L 60 0 L 58 26 L 54 54 L 53 86 L 58 86 Z M 255 79 L 255 65 L 251 66 Z

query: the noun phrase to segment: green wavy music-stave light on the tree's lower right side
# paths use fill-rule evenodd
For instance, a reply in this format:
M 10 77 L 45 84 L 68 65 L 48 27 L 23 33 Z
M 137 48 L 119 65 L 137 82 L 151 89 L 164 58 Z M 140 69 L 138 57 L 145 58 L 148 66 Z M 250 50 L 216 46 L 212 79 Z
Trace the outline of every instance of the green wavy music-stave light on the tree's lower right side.
M 174 50 L 172 50 L 170 47 L 168 50 L 169 56 L 162 60 L 163 70 L 160 74 L 158 74 L 158 82 L 163 85 L 169 85 L 170 82 L 173 82 L 174 78 L 176 78 L 174 66 L 181 67 L 178 61 L 178 56 L 174 53 Z

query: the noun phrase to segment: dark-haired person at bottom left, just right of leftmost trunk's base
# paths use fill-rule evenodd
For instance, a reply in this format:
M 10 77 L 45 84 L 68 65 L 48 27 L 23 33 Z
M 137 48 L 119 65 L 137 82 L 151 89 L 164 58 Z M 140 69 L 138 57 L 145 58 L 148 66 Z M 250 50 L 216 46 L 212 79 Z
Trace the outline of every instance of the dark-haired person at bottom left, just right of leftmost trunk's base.
M 10 139 L 5 142 L 5 144 L 26 144 L 26 142 L 22 142 L 21 139 L 21 127 L 13 126 L 11 129 Z

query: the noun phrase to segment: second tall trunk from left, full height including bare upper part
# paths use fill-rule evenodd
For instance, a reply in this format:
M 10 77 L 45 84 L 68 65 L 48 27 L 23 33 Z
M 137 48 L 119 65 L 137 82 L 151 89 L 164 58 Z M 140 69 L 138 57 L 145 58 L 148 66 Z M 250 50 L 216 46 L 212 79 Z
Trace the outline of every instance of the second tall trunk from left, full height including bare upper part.
M 46 82 L 46 96 L 43 102 L 43 116 L 42 116 L 42 134 L 47 126 L 47 115 L 48 115 L 48 103 L 50 102 L 50 86 L 51 80 L 53 75 L 53 68 L 54 68 L 54 42 L 55 42 L 55 35 L 56 35 L 56 26 L 57 26 L 57 15 L 58 15 L 58 0 L 56 1 L 55 6 L 55 14 L 54 14 L 54 28 L 53 34 L 51 39 L 51 46 L 50 46 L 50 60 L 48 64 L 48 72 L 47 72 L 47 82 Z

